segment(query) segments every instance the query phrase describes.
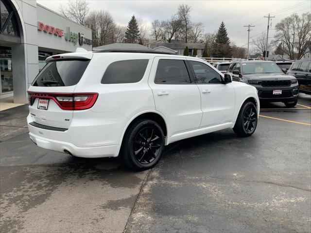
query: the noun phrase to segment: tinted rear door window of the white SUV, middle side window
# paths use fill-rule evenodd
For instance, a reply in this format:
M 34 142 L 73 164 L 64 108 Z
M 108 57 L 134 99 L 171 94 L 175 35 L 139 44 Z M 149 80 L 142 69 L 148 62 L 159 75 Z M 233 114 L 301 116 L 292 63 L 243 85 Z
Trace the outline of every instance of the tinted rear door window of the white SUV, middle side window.
M 160 59 L 155 73 L 155 83 L 191 83 L 184 60 Z

